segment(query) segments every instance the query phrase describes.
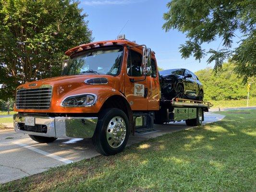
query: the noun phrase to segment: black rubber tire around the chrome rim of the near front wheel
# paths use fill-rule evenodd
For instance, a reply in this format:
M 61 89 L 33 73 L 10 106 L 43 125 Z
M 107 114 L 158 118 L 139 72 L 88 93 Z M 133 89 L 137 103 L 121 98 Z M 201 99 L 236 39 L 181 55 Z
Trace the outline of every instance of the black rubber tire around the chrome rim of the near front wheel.
M 107 131 L 110 133 L 114 132 L 113 130 L 109 131 L 110 128 L 108 128 L 108 126 L 110 123 L 112 123 L 111 120 L 113 120 L 115 117 L 120 117 L 121 119 L 123 119 L 124 123 L 123 122 L 122 123 L 125 124 L 126 126 L 125 137 L 122 140 L 122 143 L 120 142 L 120 146 L 114 146 L 114 143 L 110 145 L 108 139 L 110 140 L 111 137 L 107 139 L 107 136 L 108 136 Z M 115 127 L 113 129 L 115 129 Z M 130 134 L 129 120 L 126 114 L 121 109 L 118 109 L 118 108 L 107 108 L 101 111 L 99 114 L 98 123 L 97 123 L 96 130 L 94 132 L 92 140 L 98 153 L 104 156 L 110 156 L 123 151 L 125 145 L 127 144 L 129 134 Z

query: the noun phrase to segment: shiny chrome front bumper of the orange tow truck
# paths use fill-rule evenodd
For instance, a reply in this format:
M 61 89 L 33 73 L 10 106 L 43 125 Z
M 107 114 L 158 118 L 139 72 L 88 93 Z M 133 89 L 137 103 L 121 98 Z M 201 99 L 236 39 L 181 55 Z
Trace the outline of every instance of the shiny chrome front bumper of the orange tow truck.
M 44 133 L 21 130 L 18 123 L 24 123 L 24 117 L 13 115 L 15 132 L 58 138 L 92 138 L 98 121 L 97 117 L 35 117 L 35 125 L 47 126 Z

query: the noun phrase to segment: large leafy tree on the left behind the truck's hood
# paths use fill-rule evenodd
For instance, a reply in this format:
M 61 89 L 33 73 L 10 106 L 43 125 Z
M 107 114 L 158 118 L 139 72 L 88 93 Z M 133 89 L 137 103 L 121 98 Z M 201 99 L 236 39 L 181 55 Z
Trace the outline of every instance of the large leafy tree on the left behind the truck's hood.
M 29 81 L 57 76 L 64 51 L 92 40 L 73 0 L 0 0 L 0 98 Z

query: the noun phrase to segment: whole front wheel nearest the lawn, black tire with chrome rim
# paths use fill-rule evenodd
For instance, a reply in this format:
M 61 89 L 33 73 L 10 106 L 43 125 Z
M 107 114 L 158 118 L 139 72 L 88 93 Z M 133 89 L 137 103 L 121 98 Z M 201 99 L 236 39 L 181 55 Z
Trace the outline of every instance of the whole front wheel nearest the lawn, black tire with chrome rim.
M 110 156 L 120 153 L 129 138 L 129 121 L 118 108 L 108 108 L 100 112 L 93 135 L 93 144 L 98 153 Z

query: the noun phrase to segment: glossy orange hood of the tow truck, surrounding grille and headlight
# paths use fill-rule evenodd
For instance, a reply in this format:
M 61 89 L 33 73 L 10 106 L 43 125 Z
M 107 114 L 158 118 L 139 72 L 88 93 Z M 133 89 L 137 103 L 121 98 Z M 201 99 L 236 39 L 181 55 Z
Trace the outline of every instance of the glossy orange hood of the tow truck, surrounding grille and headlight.
M 106 78 L 108 81 L 93 81 L 87 82 L 86 80 L 94 78 Z M 49 109 L 17 109 L 18 112 L 49 112 L 49 113 L 98 113 L 103 102 L 111 95 L 121 95 L 119 92 L 120 84 L 123 81 L 120 80 L 119 76 L 110 75 L 98 75 L 98 74 L 82 74 L 82 75 L 70 75 L 70 76 L 60 76 L 48 79 L 42 79 L 38 81 L 33 81 L 27 84 L 20 85 L 17 89 L 37 89 L 46 88 L 48 85 L 52 86 L 51 102 Z M 91 83 L 91 84 L 90 84 Z M 41 93 L 40 93 L 41 94 Z M 39 94 L 39 95 L 40 95 Z M 96 96 L 97 103 L 90 108 L 67 108 L 62 107 L 61 102 L 69 96 L 78 96 L 83 94 L 93 94 Z M 25 98 L 25 97 L 23 97 Z

